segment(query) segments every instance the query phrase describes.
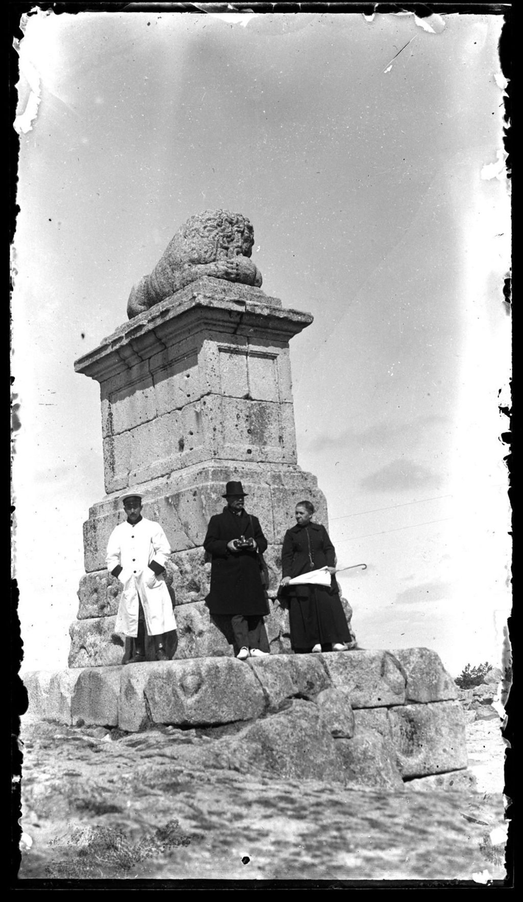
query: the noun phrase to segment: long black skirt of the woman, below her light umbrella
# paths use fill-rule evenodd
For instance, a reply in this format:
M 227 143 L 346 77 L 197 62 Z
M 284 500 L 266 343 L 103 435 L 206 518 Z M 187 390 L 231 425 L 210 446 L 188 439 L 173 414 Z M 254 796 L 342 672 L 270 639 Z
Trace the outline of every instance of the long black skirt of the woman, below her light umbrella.
M 307 586 L 307 595 L 291 595 L 289 605 L 290 645 L 295 651 L 310 651 L 315 645 L 350 642 L 339 594 L 320 586 Z

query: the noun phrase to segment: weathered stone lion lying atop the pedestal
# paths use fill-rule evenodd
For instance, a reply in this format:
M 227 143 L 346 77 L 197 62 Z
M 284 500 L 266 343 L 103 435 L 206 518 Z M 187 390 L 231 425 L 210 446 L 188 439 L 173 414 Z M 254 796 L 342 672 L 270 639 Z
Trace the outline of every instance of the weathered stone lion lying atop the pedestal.
M 206 210 L 190 216 L 170 240 L 151 275 L 134 285 L 127 302 L 129 319 L 170 298 L 202 276 L 261 286 L 261 272 L 250 260 L 252 225 L 228 210 Z

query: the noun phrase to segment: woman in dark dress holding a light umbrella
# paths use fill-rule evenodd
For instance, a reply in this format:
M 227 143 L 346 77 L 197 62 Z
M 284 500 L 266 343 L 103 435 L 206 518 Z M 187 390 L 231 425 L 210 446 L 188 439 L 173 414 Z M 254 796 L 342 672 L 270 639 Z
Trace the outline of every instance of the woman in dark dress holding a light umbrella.
M 325 526 L 312 523 L 314 506 L 299 502 L 296 526 L 288 529 L 281 549 L 282 597 L 289 603 L 290 645 L 296 652 L 346 651 L 352 640 L 335 582 L 335 547 Z M 294 576 L 326 566 L 331 585 L 289 585 Z

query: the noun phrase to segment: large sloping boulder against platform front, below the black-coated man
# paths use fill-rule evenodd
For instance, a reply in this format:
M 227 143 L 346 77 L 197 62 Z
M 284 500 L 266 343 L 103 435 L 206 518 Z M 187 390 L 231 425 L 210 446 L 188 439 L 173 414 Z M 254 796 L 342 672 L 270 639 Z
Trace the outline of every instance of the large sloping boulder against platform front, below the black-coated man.
M 294 700 L 289 708 L 252 723 L 226 741 L 230 767 L 289 779 L 343 783 L 337 742 L 316 704 Z

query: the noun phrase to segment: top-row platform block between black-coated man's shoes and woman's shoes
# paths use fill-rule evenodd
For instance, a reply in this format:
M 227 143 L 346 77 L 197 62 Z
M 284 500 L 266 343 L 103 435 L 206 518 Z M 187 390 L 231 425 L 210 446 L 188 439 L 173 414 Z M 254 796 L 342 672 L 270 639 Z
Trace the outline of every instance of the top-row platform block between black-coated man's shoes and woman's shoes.
M 271 711 L 287 698 L 313 698 L 330 686 L 321 660 L 312 655 L 271 655 L 249 658 L 248 665 L 260 681 Z

